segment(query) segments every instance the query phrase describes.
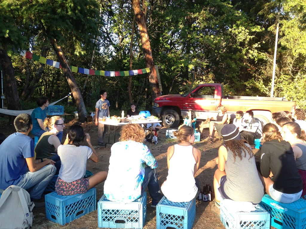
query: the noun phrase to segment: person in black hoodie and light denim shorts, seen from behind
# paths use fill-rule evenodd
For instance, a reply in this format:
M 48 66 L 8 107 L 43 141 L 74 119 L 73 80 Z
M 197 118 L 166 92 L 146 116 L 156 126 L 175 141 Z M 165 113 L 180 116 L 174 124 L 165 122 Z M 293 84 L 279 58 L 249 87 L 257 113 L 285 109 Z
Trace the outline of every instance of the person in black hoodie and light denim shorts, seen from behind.
M 281 203 L 298 200 L 303 182 L 290 143 L 282 140 L 278 127 L 273 123 L 263 127 L 262 141 L 260 172 L 265 191 Z

